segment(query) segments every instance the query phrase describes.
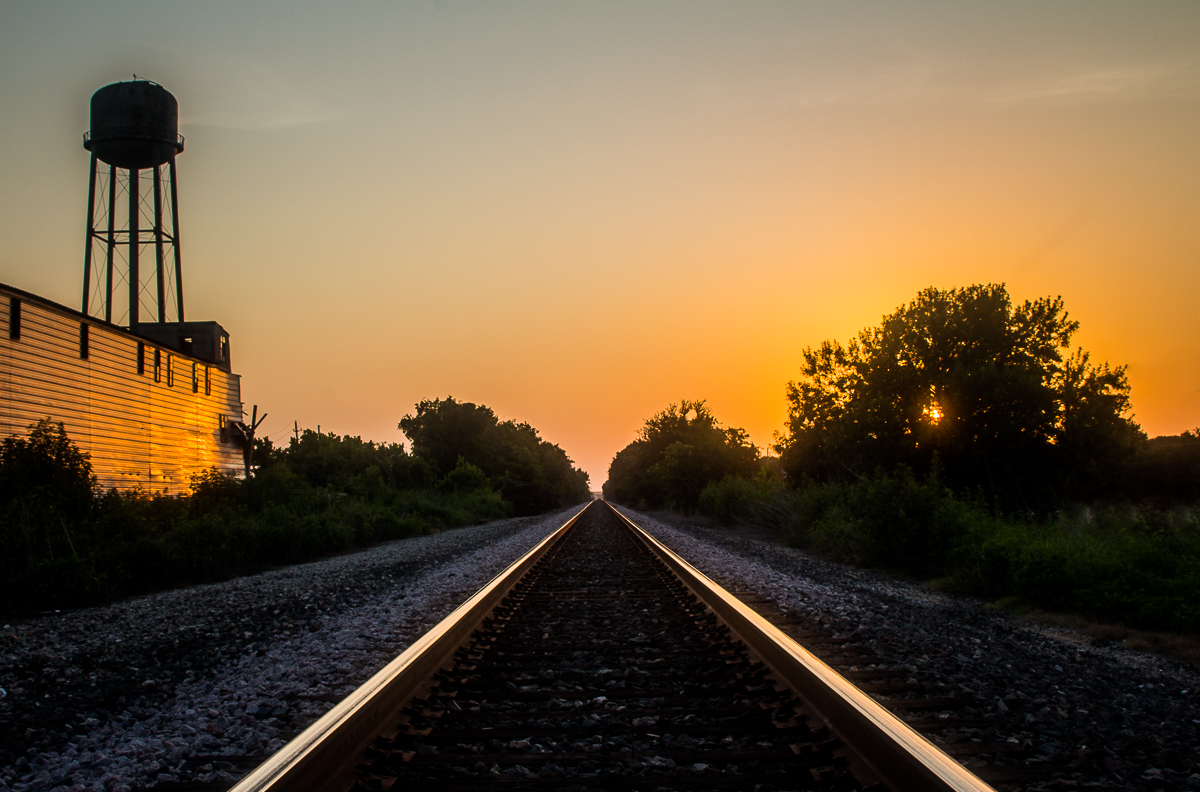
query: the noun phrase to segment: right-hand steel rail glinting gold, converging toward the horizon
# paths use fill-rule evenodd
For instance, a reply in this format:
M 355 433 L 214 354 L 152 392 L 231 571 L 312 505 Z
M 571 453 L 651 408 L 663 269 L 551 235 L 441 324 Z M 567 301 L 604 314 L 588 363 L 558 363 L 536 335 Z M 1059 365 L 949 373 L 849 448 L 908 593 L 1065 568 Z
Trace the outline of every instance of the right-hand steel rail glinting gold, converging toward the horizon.
M 994 792 L 874 698 L 605 502 L 775 676 L 894 790 Z

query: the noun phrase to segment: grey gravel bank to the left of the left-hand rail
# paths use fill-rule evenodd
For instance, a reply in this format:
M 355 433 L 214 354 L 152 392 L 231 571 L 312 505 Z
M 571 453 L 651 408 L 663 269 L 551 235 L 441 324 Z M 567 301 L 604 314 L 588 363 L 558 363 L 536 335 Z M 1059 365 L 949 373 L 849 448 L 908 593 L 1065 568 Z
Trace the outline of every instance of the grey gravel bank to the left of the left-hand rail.
M 232 785 L 577 509 L 5 624 L 0 792 Z

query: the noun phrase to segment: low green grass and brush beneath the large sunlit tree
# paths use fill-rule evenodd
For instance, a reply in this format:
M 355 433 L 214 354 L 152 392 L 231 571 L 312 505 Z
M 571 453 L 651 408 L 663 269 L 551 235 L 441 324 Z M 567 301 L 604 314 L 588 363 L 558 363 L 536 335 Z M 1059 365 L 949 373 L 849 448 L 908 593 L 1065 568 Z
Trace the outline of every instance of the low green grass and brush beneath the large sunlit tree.
M 726 479 L 700 510 L 776 528 L 796 546 L 862 566 L 941 578 L 950 590 L 1129 628 L 1200 632 L 1200 509 L 1108 504 L 1044 517 L 992 515 L 935 479 L 851 484 Z

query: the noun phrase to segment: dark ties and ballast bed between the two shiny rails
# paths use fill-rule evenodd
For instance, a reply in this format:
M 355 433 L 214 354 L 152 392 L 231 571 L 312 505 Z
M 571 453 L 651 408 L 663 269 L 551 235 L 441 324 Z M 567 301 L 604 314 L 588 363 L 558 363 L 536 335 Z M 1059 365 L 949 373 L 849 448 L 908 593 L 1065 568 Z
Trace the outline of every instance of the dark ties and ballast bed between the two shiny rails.
M 846 746 L 602 504 L 458 656 L 367 750 L 364 792 L 863 788 Z

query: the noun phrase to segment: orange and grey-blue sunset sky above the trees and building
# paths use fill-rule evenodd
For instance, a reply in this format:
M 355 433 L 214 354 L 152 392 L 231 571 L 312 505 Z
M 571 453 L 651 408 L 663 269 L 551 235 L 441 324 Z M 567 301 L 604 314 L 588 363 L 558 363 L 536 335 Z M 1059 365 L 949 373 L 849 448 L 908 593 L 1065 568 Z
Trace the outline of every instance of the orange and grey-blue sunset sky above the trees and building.
M 599 488 L 679 398 L 766 446 L 929 286 L 1062 295 L 1200 425 L 1200 4 L 0 0 L 0 281 L 78 307 L 88 101 L 180 102 L 190 319 L 260 431 L 529 421 Z

